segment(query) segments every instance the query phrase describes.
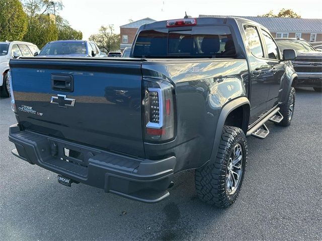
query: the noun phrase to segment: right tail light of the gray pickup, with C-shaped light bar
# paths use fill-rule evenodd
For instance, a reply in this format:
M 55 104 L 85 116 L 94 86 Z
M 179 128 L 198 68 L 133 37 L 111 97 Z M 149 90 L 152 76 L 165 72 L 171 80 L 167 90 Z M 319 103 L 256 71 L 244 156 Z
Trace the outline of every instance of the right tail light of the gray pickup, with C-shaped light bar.
M 144 80 L 144 139 L 167 142 L 175 138 L 174 86 L 162 80 Z

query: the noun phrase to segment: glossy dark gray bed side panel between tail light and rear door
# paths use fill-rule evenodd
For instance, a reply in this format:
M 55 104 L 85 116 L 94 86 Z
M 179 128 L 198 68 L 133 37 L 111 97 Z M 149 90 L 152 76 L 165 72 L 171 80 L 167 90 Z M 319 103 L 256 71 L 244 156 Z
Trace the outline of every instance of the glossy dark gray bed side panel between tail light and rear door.
M 176 172 L 200 167 L 209 160 L 222 106 L 248 95 L 246 60 L 189 61 L 142 64 L 143 78 L 163 79 L 175 86 L 176 139 L 166 144 L 145 143 L 144 150 L 149 159 L 175 155 Z

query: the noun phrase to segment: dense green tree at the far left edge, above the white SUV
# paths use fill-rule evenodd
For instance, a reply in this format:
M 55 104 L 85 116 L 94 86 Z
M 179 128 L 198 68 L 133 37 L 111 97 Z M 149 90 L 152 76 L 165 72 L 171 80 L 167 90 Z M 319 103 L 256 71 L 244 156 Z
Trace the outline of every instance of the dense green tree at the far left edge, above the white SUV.
M 0 0 L 0 41 L 21 40 L 27 31 L 27 16 L 19 0 Z

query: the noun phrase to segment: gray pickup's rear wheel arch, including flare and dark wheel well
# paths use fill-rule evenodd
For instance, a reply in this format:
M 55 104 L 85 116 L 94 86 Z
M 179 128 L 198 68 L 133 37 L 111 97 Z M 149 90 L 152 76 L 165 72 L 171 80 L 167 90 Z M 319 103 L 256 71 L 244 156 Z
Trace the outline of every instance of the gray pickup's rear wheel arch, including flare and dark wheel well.
M 238 97 L 226 103 L 219 114 L 214 142 L 212 146 L 212 151 L 210 155 L 210 162 L 212 164 L 216 158 L 218 147 L 221 139 L 221 134 L 223 127 L 225 124 L 231 125 L 231 121 L 233 123 L 238 123 L 237 127 L 239 127 L 243 132 L 247 133 L 249 118 L 250 118 L 250 101 L 247 97 Z M 234 118 L 236 114 L 242 111 L 242 118 Z

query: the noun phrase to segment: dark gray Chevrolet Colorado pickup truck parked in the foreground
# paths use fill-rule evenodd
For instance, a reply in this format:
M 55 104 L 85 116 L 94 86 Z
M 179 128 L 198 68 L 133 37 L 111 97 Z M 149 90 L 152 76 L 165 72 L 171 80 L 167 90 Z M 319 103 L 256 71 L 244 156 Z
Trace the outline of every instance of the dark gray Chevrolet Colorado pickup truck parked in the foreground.
M 141 26 L 130 56 L 11 60 L 13 154 L 64 185 L 150 203 L 169 195 L 175 173 L 195 169 L 201 200 L 232 204 L 246 136 L 291 123 L 295 51 L 282 58 L 255 22 L 197 18 Z

